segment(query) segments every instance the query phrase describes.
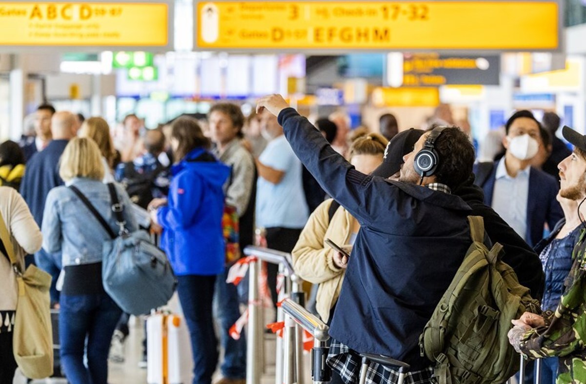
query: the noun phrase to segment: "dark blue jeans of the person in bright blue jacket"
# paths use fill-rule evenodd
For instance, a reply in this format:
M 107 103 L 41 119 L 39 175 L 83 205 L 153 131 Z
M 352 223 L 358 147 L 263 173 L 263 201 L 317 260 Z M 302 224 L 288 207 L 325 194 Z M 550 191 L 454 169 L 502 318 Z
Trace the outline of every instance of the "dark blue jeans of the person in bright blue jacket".
M 216 276 L 177 276 L 177 281 L 177 293 L 191 339 L 192 384 L 211 384 L 218 362 L 217 339 L 212 318 Z

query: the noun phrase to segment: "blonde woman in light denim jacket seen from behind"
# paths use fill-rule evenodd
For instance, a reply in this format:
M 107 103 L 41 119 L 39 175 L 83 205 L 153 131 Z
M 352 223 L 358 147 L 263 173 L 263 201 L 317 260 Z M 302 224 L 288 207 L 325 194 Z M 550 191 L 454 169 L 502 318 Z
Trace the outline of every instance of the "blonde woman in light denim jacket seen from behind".
M 84 195 L 115 233 L 108 185 L 102 182 L 100 148 L 89 138 L 67 144 L 59 166 L 65 186 L 53 188 L 43 214 L 43 249 L 62 252 L 64 269 L 60 296 L 61 363 L 71 384 L 107 384 L 108 349 L 122 310 L 102 286 L 102 244 L 110 236 L 77 195 Z M 128 195 L 115 186 L 124 206 L 126 228 L 137 230 Z M 87 339 L 87 350 L 86 350 Z M 87 366 L 84 365 L 84 354 Z

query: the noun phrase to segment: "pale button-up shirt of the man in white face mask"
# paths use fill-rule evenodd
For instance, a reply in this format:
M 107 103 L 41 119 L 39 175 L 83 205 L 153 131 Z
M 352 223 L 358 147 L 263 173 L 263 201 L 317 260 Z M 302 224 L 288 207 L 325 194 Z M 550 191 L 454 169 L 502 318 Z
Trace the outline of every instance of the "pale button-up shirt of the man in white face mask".
M 507 174 L 503 157 L 496 168 L 495 188 L 492 192 L 492 208 L 523 240 L 526 240 L 527 234 L 530 169 L 527 166 L 517 172 L 517 177 L 512 178 Z

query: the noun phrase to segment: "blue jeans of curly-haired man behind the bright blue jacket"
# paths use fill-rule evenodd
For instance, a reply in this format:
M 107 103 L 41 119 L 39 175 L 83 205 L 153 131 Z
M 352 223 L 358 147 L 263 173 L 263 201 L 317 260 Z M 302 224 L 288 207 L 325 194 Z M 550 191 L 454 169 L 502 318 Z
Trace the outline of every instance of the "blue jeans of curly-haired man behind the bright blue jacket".
M 244 332 L 240 339 L 230 337 L 230 327 L 240 318 L 239 294 L 234 284 L 226 283 L 229 268 L 220 273 L 216 280 L 215 309 L 220 321 L 220 341 L 224 348 L 222 375 L 229 379 L 246 379 L 246 338 Z M 243 284 L 243 283 L 240 283 Z

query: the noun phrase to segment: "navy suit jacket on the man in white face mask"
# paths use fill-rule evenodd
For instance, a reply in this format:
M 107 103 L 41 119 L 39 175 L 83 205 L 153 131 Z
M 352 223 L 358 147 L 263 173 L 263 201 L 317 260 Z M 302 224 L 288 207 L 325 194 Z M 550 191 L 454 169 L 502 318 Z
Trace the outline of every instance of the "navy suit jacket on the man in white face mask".
M 498 162 L 492 167 L 490 176 L 483 185 L 484 202 L 492 206 L 492 192 L 495 189 L 496 168 Z M 474 173 L 478 164 L 475 164 Z M 564 217 L 560 203 L 556 200 L 559 186 L 552 176 L 539 169 L 531 167 L 529 171 L 529 196 L 527 198 L 527 232 L 525 240 L 530 246 L 535 246 L 543 239 L 543 226 L 545 223 L 553 229 L 556 223 Z

